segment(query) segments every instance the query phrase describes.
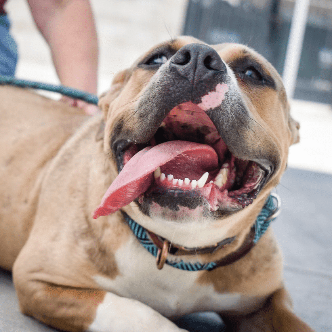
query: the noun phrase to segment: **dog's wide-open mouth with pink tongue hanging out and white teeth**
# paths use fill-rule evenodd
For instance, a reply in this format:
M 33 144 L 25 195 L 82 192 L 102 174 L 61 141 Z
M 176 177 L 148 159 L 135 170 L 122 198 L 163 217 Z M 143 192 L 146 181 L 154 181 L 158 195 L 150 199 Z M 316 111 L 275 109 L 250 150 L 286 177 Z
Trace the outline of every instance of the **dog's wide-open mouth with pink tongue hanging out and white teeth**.
M 234 211 L 253 202 L 268 175 L 258 163 L 236 158 L 208 115 L 191 102 L 172 109 L 147 144 L 119 142 L 116 156 L 121 171 L 98 215 L 144 200 L 175 211 L 199 205 Z

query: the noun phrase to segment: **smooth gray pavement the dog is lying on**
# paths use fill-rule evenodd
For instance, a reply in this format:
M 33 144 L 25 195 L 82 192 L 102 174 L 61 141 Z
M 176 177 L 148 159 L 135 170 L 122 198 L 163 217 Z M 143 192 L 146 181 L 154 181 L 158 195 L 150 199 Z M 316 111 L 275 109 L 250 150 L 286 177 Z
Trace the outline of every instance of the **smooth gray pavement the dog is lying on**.
M 276 191 L 282 213 L 272 227 L 285 258 L 285 283 L 295 312 L 317 332 L 332 331 L 332 175 L 289 168 Z M 24 316 L 9 272 L 0 270 L 0 331 L 56 331 Z M 196 313 L 176 323 L 191 332 L 223 332 L 215 313 Z

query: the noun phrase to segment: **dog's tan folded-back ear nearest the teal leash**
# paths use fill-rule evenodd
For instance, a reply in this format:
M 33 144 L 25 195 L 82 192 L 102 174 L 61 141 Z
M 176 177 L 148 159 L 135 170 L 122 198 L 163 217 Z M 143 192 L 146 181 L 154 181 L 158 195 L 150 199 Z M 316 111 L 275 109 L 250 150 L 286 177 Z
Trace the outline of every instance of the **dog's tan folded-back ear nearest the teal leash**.
M 98 106 L 103 111 L 105 120 L 107 118 L 107 113 L 110 108 L 110 104 L 113 102 L 113 100 L 115 100 L 119 96 L 124 85 L 129 80 L 130 75 L 131 75 L 130 69 L 120 71 L 120 73 L 118 73 L 114 77 L 110 90 L 102 93 L 99 96 Z

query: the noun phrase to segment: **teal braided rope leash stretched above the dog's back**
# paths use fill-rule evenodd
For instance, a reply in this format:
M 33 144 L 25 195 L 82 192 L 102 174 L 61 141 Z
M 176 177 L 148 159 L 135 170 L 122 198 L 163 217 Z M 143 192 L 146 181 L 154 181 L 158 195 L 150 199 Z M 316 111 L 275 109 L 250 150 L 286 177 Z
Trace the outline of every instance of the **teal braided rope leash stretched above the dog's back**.
M 80 99 L 87 103 L 98 105 L 98 97 L 96 95 L 82 90 L 70 88 L 64 85 L 53 85 L 42 82 L 21 80 L 13 76 L 5 76 L 5 75 L 0 75 L 0 85 L 13 85 L 13 86 L 18 86 L 20 88 L 32 88 L 38 90 L 57 92 L 61 93 L 64 96 L 71 97 L 73 99 Z

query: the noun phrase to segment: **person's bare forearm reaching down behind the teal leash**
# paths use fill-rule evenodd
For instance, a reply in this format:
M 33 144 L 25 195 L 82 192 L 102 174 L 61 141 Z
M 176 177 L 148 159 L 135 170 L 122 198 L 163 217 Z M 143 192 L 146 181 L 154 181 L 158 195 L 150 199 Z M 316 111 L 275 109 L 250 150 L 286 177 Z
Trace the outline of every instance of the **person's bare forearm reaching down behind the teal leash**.
M 87 0 L 28 0 L 48 42 L 62 84 L 91 93 L 97 90 L 98 45 Z

